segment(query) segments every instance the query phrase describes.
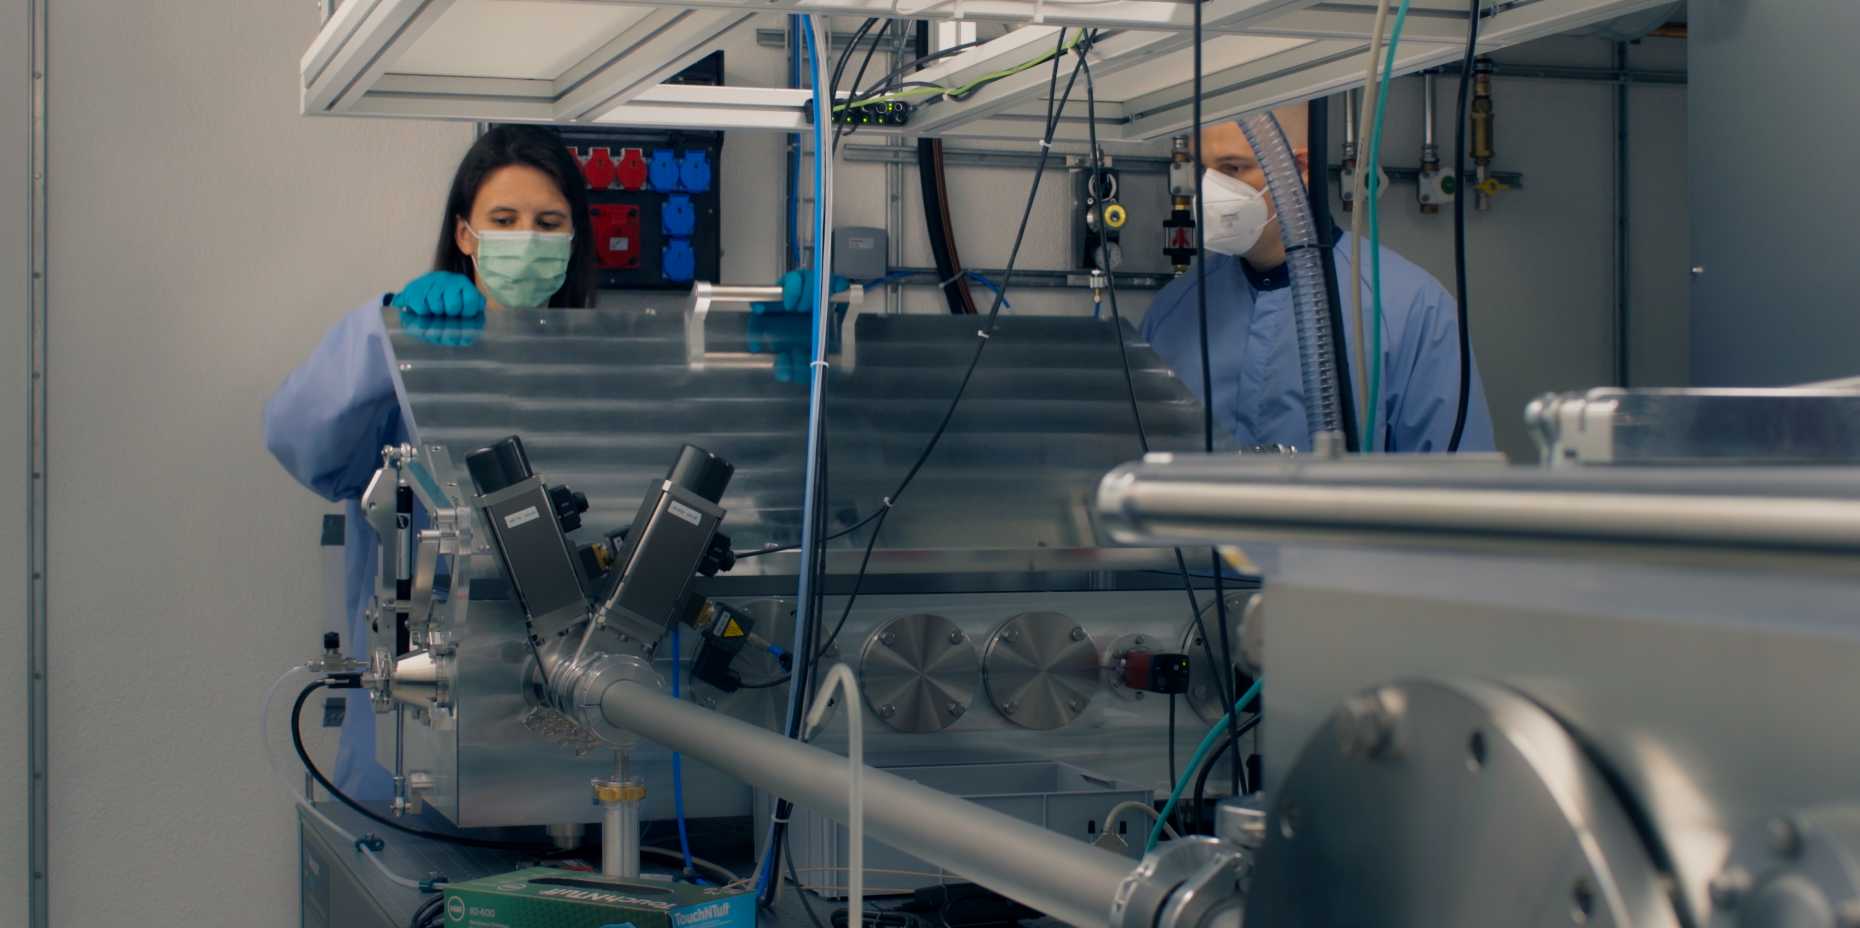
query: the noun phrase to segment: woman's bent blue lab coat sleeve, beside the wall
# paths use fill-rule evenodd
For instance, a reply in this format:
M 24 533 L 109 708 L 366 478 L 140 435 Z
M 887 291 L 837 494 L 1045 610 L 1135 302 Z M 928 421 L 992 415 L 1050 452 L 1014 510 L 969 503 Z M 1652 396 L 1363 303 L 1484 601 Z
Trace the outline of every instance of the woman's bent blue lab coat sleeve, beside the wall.
M 355 498 L 400 430 L 381 301 L 342 316 L 264 404 L 264 446 L 329 500 Z

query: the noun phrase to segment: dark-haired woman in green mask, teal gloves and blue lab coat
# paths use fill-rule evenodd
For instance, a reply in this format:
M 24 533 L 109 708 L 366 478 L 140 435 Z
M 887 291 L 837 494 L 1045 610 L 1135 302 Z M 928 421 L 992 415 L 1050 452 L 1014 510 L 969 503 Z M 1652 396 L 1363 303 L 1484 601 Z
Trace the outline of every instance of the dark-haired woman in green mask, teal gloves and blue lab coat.
M 342 318 L 264 405 L 264 443 L 290 476 L 344 500 L 344 649 L 366 658 L 363 617 L 376 577 L 376 536 L 357 504 L 381 465 L 381 446 L 407 441 L 387 370 L 383 307 L 405 325 L 504 309 L 590 307 L 593 232 L 580 167 L 560 136 L 498 126 L 472 143 L 439 219 L 433 270 Z M 374 710 L 348 690 L 342 746 L 331 779 L 353 798 L 385 800 L 392 779 L 374 761 Z

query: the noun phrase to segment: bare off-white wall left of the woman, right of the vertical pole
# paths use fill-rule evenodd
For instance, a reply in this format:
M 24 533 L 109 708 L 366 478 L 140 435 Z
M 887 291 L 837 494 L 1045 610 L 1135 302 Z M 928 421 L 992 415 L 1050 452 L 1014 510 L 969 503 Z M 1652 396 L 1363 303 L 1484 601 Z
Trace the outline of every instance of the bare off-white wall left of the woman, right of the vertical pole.
M 326 506 L 260 407 L 428 260 L 469 128 L 299 117 L 309 0 L 48 6 L 52 922 L 283 928 L 253 709 L 318 645 Z

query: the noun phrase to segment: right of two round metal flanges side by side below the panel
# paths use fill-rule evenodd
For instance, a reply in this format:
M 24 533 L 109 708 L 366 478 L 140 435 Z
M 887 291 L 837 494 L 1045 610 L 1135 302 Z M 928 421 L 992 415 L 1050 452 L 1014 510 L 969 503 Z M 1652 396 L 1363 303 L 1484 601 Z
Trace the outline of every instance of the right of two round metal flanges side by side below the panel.
M 1079 718 L 1103 686 L 1097 645 L 1062 612 L 1021 612 L 982 651 L 995 710 L 1016 725 L 1049 731 Z

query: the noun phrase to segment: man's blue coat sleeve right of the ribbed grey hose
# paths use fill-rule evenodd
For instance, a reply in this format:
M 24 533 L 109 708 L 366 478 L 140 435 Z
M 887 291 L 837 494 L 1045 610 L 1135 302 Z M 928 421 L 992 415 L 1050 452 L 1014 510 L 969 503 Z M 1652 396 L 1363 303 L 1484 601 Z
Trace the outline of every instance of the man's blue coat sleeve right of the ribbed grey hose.
M 1417 273 L 1419 279 L 1402 288 L 1414 294 L 1414 303 L 1401 337 L 1402 344 L 1391 351 L 1395 363 L 1386 381 L 1386 389 L 1399 391 L 1386 433 L 1388 450 L 1445 452 L 1460 409 L 1458 305 L 1453 294 L 1419 266 L 1402 270 Z M 1477 359 L 1469 374 L 1460 450 L 1492 452 L 1497 448 L 1492 439 L 1492 411 L 1486 409 L 1486 389 L 1479 379 Z

